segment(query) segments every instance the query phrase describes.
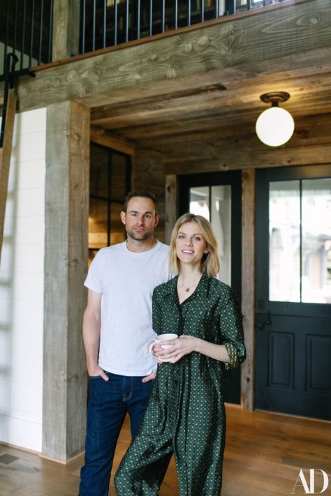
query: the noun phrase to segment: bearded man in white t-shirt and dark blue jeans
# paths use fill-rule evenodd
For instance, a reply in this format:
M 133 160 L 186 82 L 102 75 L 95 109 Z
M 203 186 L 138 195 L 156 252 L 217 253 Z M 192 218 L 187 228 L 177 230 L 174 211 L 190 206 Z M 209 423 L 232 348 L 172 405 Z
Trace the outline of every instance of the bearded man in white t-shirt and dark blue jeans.
M 156 363 L 147 352 L 152 292 L 168 274 L 168 246 L 154 239 L 155 196 L 128 193 L 121 212 L 127 240 L 102 248 L 84 285 L 89 289 L 83 338 L 89 374 L 85 465 L 79 496 L 107 496 L 115 446 L 126 412 L 134 437 L 147 407 Z

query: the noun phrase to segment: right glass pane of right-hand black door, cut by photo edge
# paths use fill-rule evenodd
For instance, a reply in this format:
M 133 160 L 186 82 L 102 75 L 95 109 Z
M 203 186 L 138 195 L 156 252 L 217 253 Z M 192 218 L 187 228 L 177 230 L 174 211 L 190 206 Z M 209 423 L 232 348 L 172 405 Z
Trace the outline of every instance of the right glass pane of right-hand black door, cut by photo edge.
M 302 301 L 331 303 L 331 178 L 302 181 Z

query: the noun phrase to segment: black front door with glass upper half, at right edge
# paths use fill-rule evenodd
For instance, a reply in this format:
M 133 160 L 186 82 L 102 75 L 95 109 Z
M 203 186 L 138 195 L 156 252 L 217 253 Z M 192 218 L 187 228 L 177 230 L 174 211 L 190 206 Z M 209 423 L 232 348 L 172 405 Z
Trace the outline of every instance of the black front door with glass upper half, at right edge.
M 256 178 L 256 408 L 330 419 L 331 166 Z

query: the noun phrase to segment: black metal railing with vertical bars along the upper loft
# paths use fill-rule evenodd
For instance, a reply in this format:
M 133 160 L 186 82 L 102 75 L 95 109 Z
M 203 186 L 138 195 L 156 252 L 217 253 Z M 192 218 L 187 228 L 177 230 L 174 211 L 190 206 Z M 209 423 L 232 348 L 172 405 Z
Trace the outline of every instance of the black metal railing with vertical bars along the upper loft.
M 0 81 L 6 55 L 18 58 L 15 77 L 52 61 L 56 0 L 1 0 Z M 80 6 L 80 54 L 139 40 L 283 0 L 72 0 Z

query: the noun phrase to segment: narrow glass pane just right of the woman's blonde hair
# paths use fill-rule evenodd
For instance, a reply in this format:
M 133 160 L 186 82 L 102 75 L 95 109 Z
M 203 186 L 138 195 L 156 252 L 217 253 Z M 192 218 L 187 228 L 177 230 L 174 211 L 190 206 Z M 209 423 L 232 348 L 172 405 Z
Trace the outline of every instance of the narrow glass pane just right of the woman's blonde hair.
M 231 285 L 231 186 L 212 186 L 212 227 L 219 242 L 219 279 Z

